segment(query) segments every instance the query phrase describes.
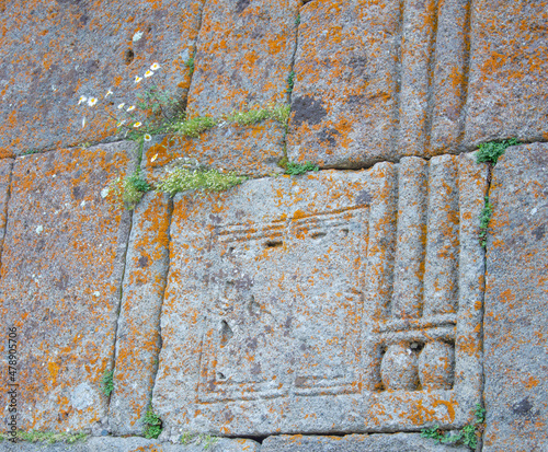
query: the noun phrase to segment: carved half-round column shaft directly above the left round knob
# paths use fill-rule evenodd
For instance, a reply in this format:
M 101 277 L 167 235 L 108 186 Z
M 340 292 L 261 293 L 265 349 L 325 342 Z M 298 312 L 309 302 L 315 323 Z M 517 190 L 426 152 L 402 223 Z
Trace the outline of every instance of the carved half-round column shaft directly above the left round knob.
M 403 158 L 398 177 L 398 245 L 393 276 L 392 316 L 416 318 L 423 304 L 429 163 Z

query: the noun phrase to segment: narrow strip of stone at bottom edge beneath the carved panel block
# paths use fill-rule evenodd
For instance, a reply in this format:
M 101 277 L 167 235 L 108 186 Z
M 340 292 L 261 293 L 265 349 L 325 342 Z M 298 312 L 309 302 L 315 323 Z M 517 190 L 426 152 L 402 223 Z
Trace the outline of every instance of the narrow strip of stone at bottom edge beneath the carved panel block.
M 277 436 L 266 438 L 261 452 L 445 452 L 467 447 L 436 444 L 419 433 L 349 434 L 346 437 Z

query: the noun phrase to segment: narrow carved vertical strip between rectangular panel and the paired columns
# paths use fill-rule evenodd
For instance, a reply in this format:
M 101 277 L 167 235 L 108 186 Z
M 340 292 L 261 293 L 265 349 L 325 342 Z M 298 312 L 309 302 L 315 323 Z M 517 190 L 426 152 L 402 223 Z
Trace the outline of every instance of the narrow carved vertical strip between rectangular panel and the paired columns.
M 372 318 L 383 318 L 391 310 L 393 256 L 398 216 L 398 175 L 392 163 L 378 163 L 369 173 L 374 194 L 369 210 L 366 293 Z

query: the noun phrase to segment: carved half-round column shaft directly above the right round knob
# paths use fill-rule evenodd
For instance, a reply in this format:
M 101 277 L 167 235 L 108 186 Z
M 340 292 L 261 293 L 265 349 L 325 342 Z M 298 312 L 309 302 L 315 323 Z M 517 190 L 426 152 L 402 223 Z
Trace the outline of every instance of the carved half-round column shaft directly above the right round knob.
M 429 219 L 424 270 L 424 315 L 457 311 L 458 295 L 458 158 L 431 159 Z

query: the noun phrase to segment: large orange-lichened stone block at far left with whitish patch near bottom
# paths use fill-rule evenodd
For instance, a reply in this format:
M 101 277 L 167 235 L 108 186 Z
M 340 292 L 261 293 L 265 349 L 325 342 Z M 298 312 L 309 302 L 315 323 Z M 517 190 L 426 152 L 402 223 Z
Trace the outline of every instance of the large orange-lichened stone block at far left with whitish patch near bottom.
M 130 149 L 59 150 L 13 165 L 0 313 L 2 331 L 18 328 L 20 429 L 79 430 L 106 415 L 100 386 L 114 359 L 129 215 L 100 193 L 132 171 Z

